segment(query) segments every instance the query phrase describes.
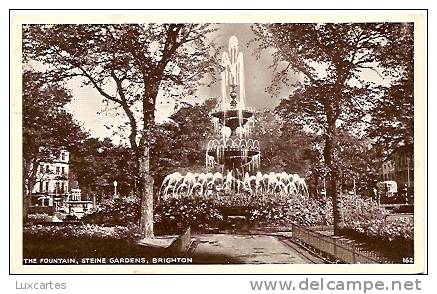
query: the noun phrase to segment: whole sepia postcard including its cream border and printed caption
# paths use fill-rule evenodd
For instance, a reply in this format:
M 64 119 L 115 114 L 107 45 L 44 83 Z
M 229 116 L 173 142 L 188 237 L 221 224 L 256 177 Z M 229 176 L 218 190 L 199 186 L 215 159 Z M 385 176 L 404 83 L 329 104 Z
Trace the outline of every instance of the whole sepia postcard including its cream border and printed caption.
M 426 273 L 426 11 L 10 23 L 12 274 Z

